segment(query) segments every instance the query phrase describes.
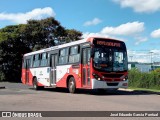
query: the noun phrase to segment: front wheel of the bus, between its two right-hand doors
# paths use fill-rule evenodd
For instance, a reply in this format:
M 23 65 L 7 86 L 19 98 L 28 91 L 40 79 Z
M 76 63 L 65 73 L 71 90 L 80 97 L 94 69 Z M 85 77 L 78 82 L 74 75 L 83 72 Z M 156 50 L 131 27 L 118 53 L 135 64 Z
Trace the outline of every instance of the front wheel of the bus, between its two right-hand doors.
M 70 93 L 75 93 L 76 92 L 76 83 L 75 83 L 74 77 L 71 77 L 69 79 L 68 90 L 69 90 Z

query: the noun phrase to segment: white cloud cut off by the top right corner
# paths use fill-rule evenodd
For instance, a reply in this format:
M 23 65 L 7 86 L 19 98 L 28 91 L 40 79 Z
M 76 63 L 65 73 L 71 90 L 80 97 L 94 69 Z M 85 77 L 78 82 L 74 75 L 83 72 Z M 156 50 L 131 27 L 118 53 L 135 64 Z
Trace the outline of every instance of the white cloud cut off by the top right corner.
M 122 8 L 130 7 L 138 13 L 151 13 L 160 10 L 159 0 L 112 0 Z

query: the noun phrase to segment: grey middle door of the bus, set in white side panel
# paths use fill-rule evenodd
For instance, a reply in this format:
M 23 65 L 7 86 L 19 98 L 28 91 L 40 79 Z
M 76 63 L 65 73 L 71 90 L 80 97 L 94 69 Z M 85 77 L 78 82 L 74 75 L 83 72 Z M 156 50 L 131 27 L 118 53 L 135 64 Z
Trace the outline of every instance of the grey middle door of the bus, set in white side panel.
M 57 54 L 51 55 L 51 86 L 56 84 Z

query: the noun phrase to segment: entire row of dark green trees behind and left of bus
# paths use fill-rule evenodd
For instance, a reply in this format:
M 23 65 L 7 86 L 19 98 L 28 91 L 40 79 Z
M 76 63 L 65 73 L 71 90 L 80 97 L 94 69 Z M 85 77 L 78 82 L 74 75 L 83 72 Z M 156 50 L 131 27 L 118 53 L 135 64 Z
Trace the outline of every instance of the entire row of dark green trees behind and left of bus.
M 76 41 L 81 36 L 80 31 L 64 28 L 53 17 L 0 29 L 0 81 L 21 81 L 25 53 Z

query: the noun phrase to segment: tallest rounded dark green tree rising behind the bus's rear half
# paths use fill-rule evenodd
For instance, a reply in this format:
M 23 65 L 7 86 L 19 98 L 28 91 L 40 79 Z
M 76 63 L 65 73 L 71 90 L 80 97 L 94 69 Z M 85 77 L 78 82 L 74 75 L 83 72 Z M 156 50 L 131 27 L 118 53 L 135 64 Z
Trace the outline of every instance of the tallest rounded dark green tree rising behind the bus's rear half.
M 24 40 L 32 50 L 55 45 L 55 40 L 65 35 L 65 29 L 53 17 L 29 20 L 23 31 Z

